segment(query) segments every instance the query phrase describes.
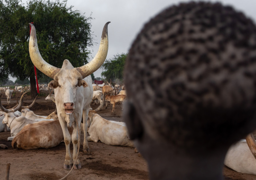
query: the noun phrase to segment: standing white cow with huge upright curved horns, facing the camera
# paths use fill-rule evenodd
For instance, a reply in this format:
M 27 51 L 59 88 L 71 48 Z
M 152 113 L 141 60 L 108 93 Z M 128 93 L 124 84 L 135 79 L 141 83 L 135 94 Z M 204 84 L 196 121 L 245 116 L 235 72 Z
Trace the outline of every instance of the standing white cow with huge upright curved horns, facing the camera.
M 87 117 L 93 95 L 92 78 L 90 74 L 99 69 L 106 59 L 108 51 L 107 27 L 109 23 L 110 22 L 107 22 L 103 28 L 101 42 L 96 56 L 91 62 L 78 68 L 74 68 L 69 60 L 63 61 L 62 68 L 56 68 L 45 62 L 38 50 L 35 27 L 34 25 L 30 24 L 30 58 L 36 68 L 38 68 L 45 75 L 54 79 L 48 84 L 48 87 L 54 88 L 58 119 L 66 144 L 66 157 L 64 162 L 65 169 L 71 169 L 73 163 L 75 164 L 75 169 L 81 168 L 79 158 L 77 161 L 75 161 L 78 150 L 78 135 L 80 135 L 80 132 L 78 134 L 77 124 L 74 123 L 75 118 L 77 118 L 78 126 L 81 127 L 81 120 L 83 117 L 83 151 L 89 151 L 86 131 Z M 73 158 L 70 152 L 71 136 L 68 131 L 68 127 L 71 126 L 74 127 L 72 133 Z

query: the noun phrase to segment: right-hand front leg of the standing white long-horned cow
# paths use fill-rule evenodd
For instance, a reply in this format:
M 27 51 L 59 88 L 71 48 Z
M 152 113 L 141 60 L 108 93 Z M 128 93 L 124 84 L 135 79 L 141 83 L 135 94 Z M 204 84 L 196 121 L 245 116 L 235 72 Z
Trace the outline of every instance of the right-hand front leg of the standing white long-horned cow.
M 81 116 L 78 117 L 79 119 L 81 119 Z M 78 126 L 79 129 L 81 129 L 81 120 L 78 121 Z M 74 169 L 81 169 L 81 163 L 79 158 L 77 158 L 77 152 L 78 152 L 78 137 L 81 137 L 81 132 L 79 132 L 78 134 L 78 128 L 77 128 L 77 123 L 75 121 L 74 125 L 73 125 L 73 133 L 72 133 L 72 143 L 73 143 L 73 164 L 74 165 Z M 79 130 L 80 131 L 80 130 Z M 80 145 L 80 144 L 79 144 Z M 76 160 L 77 158 L 77 160 Z M 75 161 L 76 160 L 76 161 Z

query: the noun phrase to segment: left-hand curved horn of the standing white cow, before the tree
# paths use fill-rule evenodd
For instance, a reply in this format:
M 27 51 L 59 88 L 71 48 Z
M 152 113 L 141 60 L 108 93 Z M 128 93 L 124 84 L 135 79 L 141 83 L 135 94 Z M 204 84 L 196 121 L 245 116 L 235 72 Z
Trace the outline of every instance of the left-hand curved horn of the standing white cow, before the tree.
M 54 79 L 55 74 L 60 70 L 47 62 L 45 62 L 38 50 L 37 39 L 36 39 L 36 29 L 33 24 L 29 23 L 31 26 L 30 38 L 29 38 L 29 55 L 30 58 L 39 71 L 44 73 L 46 76 Z

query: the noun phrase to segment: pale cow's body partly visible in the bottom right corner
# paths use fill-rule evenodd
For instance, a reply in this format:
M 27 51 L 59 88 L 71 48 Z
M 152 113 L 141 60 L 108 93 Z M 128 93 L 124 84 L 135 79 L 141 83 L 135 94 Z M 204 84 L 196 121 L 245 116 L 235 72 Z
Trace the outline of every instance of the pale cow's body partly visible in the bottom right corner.
M 256 159 L 245 139 L 229 148 L 224 164 L 237 172 L 256 175 Z

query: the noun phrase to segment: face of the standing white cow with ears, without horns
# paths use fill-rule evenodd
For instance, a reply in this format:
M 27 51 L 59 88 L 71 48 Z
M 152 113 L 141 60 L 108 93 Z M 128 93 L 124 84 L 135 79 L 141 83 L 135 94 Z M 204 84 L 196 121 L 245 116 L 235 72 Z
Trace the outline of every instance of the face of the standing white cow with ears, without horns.
M 57 111 L 62 109 L 70 115 L 75 109 L 78 89 L 85 88 L 88 84 L 82 80 L 81 74 L 76 69 L 61 69 L 55 79 L 48 84 L 48 87 L 55 89 Z

